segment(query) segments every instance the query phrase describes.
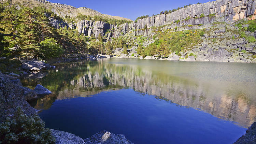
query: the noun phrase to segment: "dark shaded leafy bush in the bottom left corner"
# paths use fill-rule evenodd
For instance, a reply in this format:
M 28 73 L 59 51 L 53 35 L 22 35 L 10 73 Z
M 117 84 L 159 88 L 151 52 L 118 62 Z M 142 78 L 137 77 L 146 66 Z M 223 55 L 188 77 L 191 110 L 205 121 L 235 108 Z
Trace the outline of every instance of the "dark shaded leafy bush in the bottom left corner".
M 6 144 L 52 144 L 55 142 L 49 129 L 38 116 L 28 116 L 18 109 L 13 119 L 7 117 L 0 124 L 0 143 Z

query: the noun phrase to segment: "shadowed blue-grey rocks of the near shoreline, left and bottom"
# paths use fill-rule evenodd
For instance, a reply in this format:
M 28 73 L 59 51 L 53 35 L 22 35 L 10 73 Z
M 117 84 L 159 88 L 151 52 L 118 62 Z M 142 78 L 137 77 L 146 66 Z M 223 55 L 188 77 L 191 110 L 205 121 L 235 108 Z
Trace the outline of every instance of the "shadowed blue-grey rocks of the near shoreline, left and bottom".
M 40 71 L 47 68 L 55 68 L 42 61 L 37 62 L 24 62 L 22 64 L 22 70 Z M 22 71 L 24 74 L 28 74 Z M 38 111 L 29 105 L 27 101 L 36 99 L 40 96 L 45 96 L 51 93 L 48 89 L 42 85 L 37 85 L 34 90 L 23 87 L 18 78 L 23 76 L 15 73 L 3 74 L 0 72 L 0 123 L 4 122 L 7 117 L 12 117 L 18 108 L 20 108 L 28 116 L 38 115 Z M 55 138 L 55 144 L 109 144 L 109 143 L 122 143 L 132 144 L 125 138 L 123 134 L 113 134 L 108 131 L 101 131 L 83 140 L 79 136 L 74 134 L 63 132 L 59 130 L 51 130 L 52 135 Z M 104 138 L 104 139 L 102 139 Z

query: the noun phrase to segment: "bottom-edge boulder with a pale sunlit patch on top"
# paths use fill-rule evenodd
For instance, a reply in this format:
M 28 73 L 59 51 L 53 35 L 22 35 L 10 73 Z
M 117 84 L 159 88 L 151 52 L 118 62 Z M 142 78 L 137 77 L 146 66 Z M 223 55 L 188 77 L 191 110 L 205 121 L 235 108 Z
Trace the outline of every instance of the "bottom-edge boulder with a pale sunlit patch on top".
M 106 130 L 98 132 L 84 140 L 86 144 L 133 144 L 123 134 L 113 134 Z

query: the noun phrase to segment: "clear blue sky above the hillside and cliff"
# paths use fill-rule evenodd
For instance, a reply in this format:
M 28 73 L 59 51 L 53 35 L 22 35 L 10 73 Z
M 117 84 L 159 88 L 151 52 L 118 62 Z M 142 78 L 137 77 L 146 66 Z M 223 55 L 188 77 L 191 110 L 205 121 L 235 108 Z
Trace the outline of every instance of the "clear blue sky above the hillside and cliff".
M 87 7 L 102 14 L 121 16 L 135 20 L 138 16 L 159 14 L 161 11 L 183 7 L 189 3 L 205 3 L 213 0 L 48 0 L 79 7 Z

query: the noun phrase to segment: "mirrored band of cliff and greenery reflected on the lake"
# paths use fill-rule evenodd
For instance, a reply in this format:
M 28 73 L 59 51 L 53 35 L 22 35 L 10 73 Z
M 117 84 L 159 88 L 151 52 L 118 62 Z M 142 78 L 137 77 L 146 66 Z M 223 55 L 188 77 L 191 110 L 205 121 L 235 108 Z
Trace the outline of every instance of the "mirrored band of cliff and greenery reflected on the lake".
M 47 84 L 49 80 L 55 83 Z M 235 121 L 241 126 L 248 127 L 256 121 L 255 98 L 246 90 L 234 88 L 235 84 L 195 81 L 193 78 L 173 76 L 161 70 L 151 71 L 136 65 L 81 61 L 64 64 L 58 67 L 58 72 L 49 71 L 47 76 L 34 81 L 44 83 L 44 86 L 54 91 L 52 98 L 48 98 L 51 102 L 53 97 L 87 97 L 105 90 L 130 87 L 218 118 Z M 39 108 L 46 101 L 39 99 L 35 107 Z

